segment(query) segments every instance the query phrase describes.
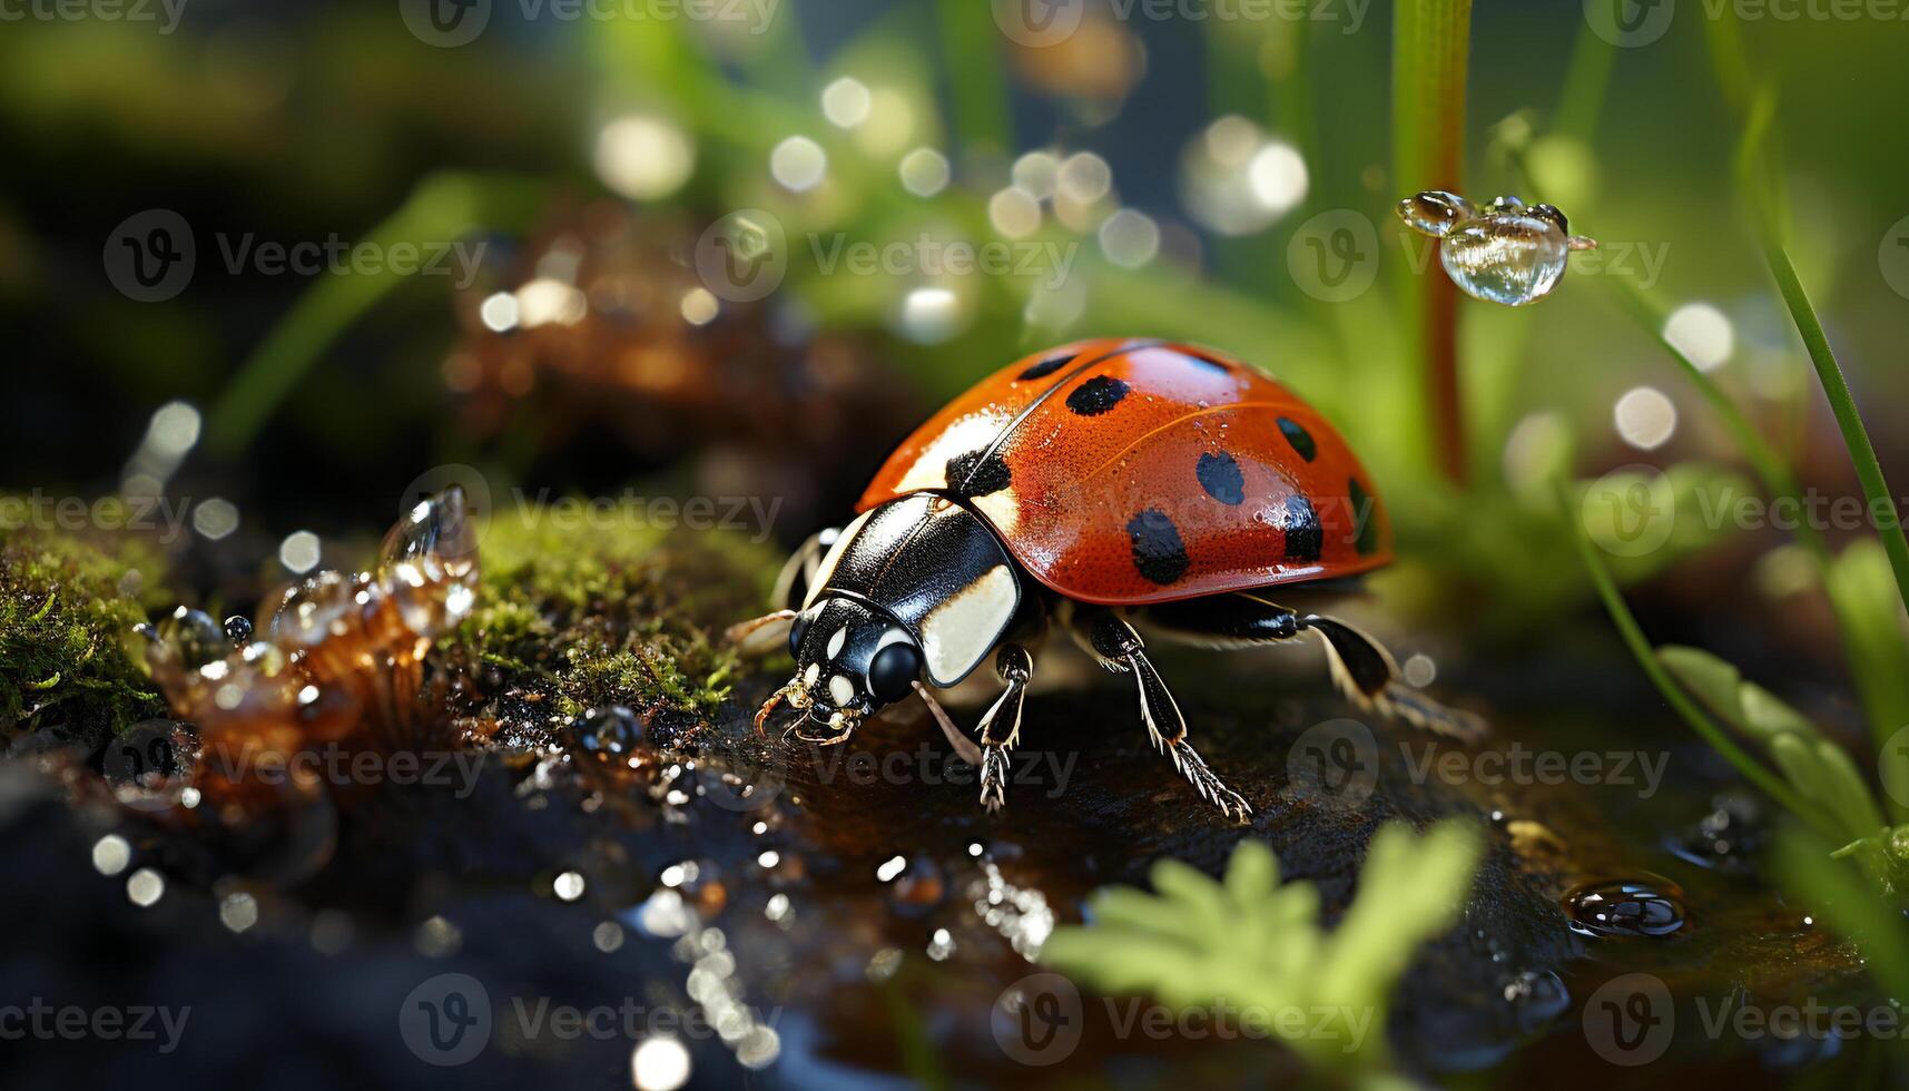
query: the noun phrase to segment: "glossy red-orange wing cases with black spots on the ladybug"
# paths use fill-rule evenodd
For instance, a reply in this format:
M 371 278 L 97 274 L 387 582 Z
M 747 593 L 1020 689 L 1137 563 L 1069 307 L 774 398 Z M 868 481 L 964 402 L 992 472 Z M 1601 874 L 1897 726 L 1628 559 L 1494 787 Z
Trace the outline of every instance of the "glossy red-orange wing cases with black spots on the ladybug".
M 1224 353 L 1088 340 L 1016 361 L 903 439 L 855 510 L 966 499 L 1080 602 L 1140 606 L 1357 575 L 1392 524 L 1346 439 Z

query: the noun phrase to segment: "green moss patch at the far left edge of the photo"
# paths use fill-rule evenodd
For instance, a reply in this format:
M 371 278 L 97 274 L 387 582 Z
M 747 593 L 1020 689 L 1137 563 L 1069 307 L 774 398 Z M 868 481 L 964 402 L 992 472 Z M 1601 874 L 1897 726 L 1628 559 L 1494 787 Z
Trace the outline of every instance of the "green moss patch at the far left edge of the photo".
M 160 554 L 136 539 L 0 531 L 0 730 L 84 736 L 160 715 L 126 634 L 162 573 Z

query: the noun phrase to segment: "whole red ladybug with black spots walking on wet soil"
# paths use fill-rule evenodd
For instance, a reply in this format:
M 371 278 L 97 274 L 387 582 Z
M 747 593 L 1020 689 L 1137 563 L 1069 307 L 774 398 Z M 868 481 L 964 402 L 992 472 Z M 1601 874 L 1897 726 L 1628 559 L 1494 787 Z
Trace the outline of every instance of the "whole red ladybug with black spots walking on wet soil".
M 871 713 L 920 694 L 981 766 L 981 802 L 1006 802 L 1033 650 L 1052 629 L 1130 674 L 1155 749 L 1227 816 L 1247 801 L 1193 751 L 1142 631 L 1243 648 L 1323 638 L 1332 678 L 1361 707 L 1468 736 L 1479 724 L 1399 680 L 1352 625 L 1279 606 L 1392 560 L 1384 504 L 1319 413 L 1245 363 L 1184 344 L 1090 340 L 981 380 L 909 436 L 840 531 L 783 569 L 783 610 L 737 625 L 764 648 L 787 627 L 796 674 L 756 713 L 840 743 Z M 922 680 L 947 688 L 989 655 L 1006 686 L 979 749 Z M 808 730 L 806 730 L 808 728 Z

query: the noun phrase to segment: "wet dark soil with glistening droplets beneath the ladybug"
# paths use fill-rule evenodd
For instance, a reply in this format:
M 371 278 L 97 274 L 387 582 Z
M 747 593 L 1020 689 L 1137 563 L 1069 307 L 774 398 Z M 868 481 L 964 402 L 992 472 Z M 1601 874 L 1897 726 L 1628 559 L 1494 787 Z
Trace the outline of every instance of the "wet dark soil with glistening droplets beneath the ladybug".
M 1852 952 L 1756 875 L 1745 850 L 1754 804 L 1724 797 L 1737 850 L 1693 835 L 1728 781 L 1644 694 L 1586 686 L 1558 711 L 1521 694 L 1531 669 L 1441 680 L 1493 707 L 1495 734 L 1466 749 L 1353 718 L 1290 661 L 1161 657 L 1170 680 L 1199 680 L 1180 684 L 1180 701 L 1206 760 L 1252 804 L 1245 825 L 1153 753 L 1111 676 L 1031 697 L 1000 814 L 977 806 L 974 770 L 913 703 L 844 747 L 758 741 L 748 713 L 777 682 L 766 671 L 714 722 L 643 717 L 643 739 L 615 760 L 567 724 L 542 738 L 517 730 L 470 783 L 382 785 L 304 816 L 321 837 L 334 831 L 336 850 L 290 888 L 225 873 L 218 850 L 149 816 L 63 802 L 55 781 L 84 759 L 53 747 L 0 780 L 0 852 L 11 898 L 31 906 L 0 940 L 4 992 L 191 1007 L 191 1018 L 172 1053 L 53 1043 L 11 1076 L 628 1087 L 632 1049 L 657 1024 L 563 1038 L 535 1016 L 636 1005 L 727 1013 L 727 1036 L 661 1030 L 687 1045 L 695 1085 L 1264 1085 L 1294 1072 L 1273 1045 L 1122 1038 L 1096 1005 L 1073 1055 L 1031 1068 L 996 1043 L 995 1001 L 1037 971 L 1040 938 L 1079 921 L 1088 892 L 1145 885 L 1159 856 L 1216 873 L 1239 839 L 1264 839 L 1289 879 L 1319 885 L 1331 921 L 1367 839 L 1392 818 L 1470 816 L 1489 831 L 1462 927 L 1420 953 L 1394 1009 L 1394 1047 L 1418 1074 L 1516 1057 L 1514 1081 L 1615 1080 L 1626 1070 L 1592 1049 L 1579 1005 L 1625 973 L 1659 976 L 1680 1001 L 1863 995 Z M 954 715 L 970 722 L 977 709 Z M 1355 768 L 1317 764 L 1321 724 L 1352 732 Z M 1661 757 L 1663 783 L 1651 791 L 1642 772 L 1626 780 L 1611 764 L 1598 783 L 1512 783 L 1516 764 L 1478 760 L 1516 747 L 1638 751 Z M 1460 764 L 1424 764 L 1441 753 Z M 1460 774 L 1428 772 L 1447 768 Z M 103 875 L 94 846 L 115 831 L 132 858 Z M 149 908 L 128 898 L 139 867 L 166 877 Z M 1575 932 L 1567 894 L 1623 879 L 1659 883 L 1680 925 Z M 242 931 L 221 923 L 235 896 L 256 904 Z M 401 1028 L 441 974 L 470 974 L 489 997 L 473 1062 L 437 1064 L 447 1055 Z M 1835 1053 L 1686 1038 L 1684 1078 L 1775 1081 Z

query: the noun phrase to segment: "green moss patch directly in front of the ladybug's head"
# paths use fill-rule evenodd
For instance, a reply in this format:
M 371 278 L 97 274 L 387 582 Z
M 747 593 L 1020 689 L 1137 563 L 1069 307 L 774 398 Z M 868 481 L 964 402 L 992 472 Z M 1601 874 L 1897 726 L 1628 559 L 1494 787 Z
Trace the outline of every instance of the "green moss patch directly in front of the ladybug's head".
M 556 525 L 500 512 L 479 545 L 477 610 L 454 644 L 569 718 L 594 705 L 712 713 L 735 653 L 722 629 L 764 611 L 771 546 L 725 531 Z

